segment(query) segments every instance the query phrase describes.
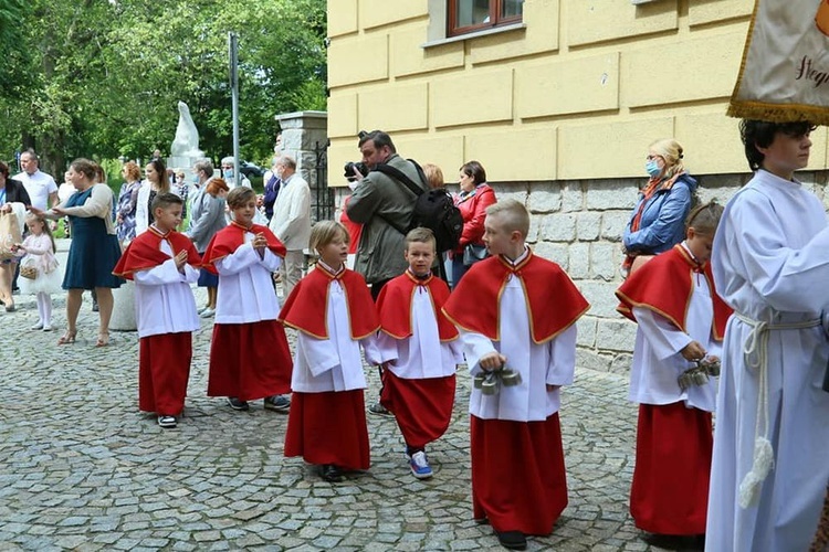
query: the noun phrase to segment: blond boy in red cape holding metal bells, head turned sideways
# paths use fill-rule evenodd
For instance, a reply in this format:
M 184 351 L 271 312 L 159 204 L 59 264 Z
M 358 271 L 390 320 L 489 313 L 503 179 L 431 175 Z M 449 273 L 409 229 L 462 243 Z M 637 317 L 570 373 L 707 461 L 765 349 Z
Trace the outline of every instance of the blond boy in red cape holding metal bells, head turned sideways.
M 472 375 L 502 367 L 521 384 L 470 395 L 472 505 L 505 548 L 548 534 L 567 506 L 559 388 L 573 383 L 576 320 L 589 305 L 567 274 L 526 246 L 529 213 L 515 200 L 486 209 L 492 257 L 472 266 L 443 311 L 461 330 Z

